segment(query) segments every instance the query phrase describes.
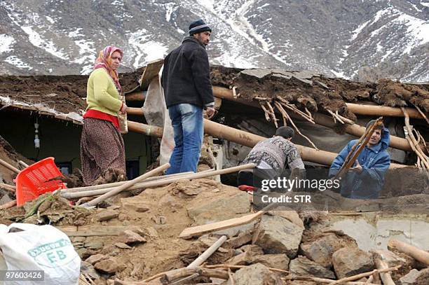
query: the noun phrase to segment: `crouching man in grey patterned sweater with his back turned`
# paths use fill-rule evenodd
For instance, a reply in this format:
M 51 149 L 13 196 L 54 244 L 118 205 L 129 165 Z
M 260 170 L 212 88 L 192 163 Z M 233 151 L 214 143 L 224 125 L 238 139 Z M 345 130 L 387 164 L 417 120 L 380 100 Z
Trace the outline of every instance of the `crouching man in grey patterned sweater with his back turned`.
M 292 127 L 279 127 L 273 137 L 259 141 L 240 164 L 254 163 L 259 169 L 270 169 L 267 174 L 271 177 L 266 177 L 270 179 L 282 174 L 286 167 L 293 173 L 296 173 L 294 169 L 305 169 L 301 155 L 291 141 L 293 136 Z M 245 186 L 254 185 L 253 170 L 245 169 L 238 172 L 239 188 L 245 190 Z

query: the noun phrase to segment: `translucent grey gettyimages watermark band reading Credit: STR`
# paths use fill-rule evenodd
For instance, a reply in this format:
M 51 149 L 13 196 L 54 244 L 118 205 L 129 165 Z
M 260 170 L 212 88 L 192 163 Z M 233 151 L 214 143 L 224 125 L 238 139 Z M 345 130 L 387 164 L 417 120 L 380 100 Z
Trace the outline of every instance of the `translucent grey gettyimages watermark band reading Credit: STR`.
M 341 179 L 329 176 L 329 169 L 287 170 L 280 175 L 272 169 L 254 169 L 252 203 L 256 209 L 276 204 L 304 211 L 425 214 L 429 209 L 428 177 L 429 172 L 408 168 L 347 172 Z

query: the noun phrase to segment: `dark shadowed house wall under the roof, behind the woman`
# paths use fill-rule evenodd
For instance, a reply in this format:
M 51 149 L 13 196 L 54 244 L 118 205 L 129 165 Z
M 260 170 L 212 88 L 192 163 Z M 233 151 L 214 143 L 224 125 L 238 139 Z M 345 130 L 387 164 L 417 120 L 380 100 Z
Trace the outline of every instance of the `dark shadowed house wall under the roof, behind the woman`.
M 0 136 L 26 158 L 37 161 L 53 156 L 57 165 L 63 167 L 69 165 L 70 172 L 75 168 L 81 168 L 80 125 L 20 109 L 0 111 L 0 120 L 8 122 L 0 128 Z M 40 148 L 34 147 L 36 120 L 39 123 Z M 136 177 L 144 173 L 151 162 L 149 138 L 144 134 L 129 133 L 125 134 L 123 139 L 127 174 L 130 178 Z

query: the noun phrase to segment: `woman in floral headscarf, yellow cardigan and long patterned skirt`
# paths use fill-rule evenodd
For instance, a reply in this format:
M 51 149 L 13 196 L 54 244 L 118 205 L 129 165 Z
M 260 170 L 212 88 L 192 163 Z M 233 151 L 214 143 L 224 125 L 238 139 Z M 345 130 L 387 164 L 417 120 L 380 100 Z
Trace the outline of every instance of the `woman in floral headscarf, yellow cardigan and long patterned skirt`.
M 88 106 L 81 136 L 82 176 L 86 185 L 126 180 L 118 113 L 126 113 L 127 106 L 119 99 L 121 84 L 116 71 L 122 56 L 122 50 L 114 46 L 101 50 L 88 79 Z

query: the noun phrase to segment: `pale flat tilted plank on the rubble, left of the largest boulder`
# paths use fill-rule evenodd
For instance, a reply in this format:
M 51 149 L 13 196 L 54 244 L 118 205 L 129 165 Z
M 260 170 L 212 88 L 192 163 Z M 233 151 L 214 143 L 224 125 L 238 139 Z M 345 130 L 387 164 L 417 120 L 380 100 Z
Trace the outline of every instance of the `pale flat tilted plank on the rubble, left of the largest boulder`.
M 214 232 L 216 230 L 224 230 L 226 228 L 233 228 L 238 225 L 245 225 L 257 218 L 260 218 L 265 211 L 258 211 L 257 213 L 242 216 L 240 218 L 231 218 L 229 220 L 220 221 L 217 223 L 209 223 L 207 225 L 197 225 L 191 228 L 185 228 L 179 235 L 182 238 L 189 238 L 193 236 L 203 235 L 207 232 Z

